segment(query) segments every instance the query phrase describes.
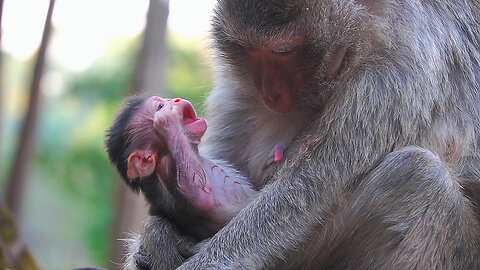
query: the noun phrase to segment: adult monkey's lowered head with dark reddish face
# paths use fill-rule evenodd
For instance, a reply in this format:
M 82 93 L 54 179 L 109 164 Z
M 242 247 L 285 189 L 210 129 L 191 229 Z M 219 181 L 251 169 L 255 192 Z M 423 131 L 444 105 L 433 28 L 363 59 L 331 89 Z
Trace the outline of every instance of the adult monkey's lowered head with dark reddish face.
M 219 1 L 214 45 L 233 86 L 272 112 L 321 110 L 361 44 L 358 14 L 377 11 L 356 1 Z

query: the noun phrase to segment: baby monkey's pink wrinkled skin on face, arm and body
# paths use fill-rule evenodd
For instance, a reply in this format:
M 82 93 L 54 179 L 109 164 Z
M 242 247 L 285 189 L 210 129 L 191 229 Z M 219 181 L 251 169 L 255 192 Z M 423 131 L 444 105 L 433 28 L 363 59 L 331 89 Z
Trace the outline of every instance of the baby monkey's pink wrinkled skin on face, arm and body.
M 199 239 L 217 232 L 257 193 L 248 179 L 199 154 L 206 129 L 190 102 L 153 96 L 133 112 L 125 134 L 133 148 L 127 160 L 130 181 L 156 175 L 181 208 L 176 218 Z

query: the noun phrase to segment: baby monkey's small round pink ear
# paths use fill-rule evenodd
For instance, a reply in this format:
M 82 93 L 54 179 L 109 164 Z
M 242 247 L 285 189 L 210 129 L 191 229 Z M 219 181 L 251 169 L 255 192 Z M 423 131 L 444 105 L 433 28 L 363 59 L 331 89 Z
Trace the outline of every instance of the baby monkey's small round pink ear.
M 157 164 L 157 154 L 150 149 L 135 149 L 127 160 L 127 176 L 129 179 L 150 176 Z

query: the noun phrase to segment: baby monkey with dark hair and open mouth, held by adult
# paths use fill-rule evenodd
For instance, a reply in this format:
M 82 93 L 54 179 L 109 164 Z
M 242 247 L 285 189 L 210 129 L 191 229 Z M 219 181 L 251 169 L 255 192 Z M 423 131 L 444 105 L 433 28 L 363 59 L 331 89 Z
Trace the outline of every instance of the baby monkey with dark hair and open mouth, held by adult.
M 204 239 L 255 198 L 246 177 L 199 154 L 207 123 L 190 102 L 153 96 L 129 104 L 108 131 L 107 152 L 127 184 L 145 194 L 151 214 Z

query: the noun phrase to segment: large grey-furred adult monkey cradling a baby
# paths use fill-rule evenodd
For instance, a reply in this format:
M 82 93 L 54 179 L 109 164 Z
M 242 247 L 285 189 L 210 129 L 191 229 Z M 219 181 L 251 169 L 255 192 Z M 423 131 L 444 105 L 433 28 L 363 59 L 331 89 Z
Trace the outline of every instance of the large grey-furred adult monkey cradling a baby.
M 480 268 L 479 12 L 467 0 L 220 0 L 203 151 L 261 192 L 180 268 Z M 262 170 L 283 129 L 301 132 Z M 174 248 L 155 252 L 178 238 L 159 228 L 171 229 L 155 220 L 143 237 L 154 268 L 178 263 Z

